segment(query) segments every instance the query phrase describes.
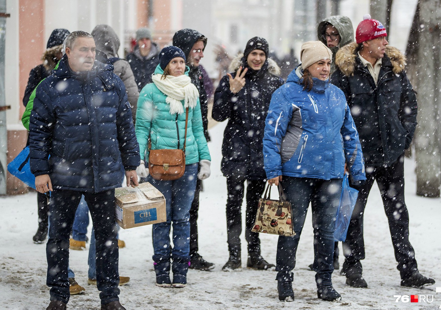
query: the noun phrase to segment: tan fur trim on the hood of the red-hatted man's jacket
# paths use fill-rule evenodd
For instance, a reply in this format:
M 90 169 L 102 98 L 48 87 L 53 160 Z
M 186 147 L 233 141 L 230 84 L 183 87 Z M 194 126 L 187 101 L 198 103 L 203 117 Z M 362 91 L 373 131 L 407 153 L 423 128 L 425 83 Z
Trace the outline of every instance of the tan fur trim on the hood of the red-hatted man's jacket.
M 353 42 L 340 48 L 336 54 L 335 64 L 345 76 L 354 75 L 355 59 L 358 56 L 355 52 L 357 47 L 358 44 Z M 392 63 L 393 73 L 400 74 L 406 66 L 406 56 L 404 56 L 398 48 L 392 46 L 386 47 L 386 55 Z

